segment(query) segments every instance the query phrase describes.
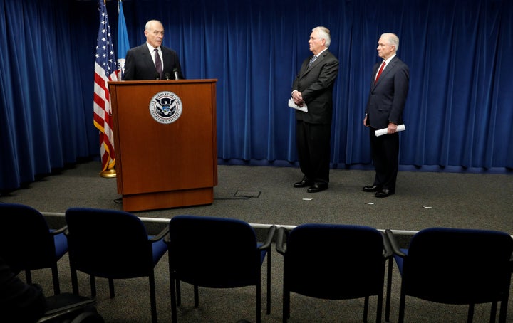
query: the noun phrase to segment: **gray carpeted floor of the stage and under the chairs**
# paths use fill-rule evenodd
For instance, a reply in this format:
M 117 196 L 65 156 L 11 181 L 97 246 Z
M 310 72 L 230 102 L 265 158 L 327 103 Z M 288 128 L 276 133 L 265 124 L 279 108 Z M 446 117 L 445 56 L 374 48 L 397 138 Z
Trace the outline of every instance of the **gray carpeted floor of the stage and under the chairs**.
M 72 206 L 122 209 L 116 180 L 99 176 L 99 162 L 84 162 L 45 176 L 23 189 L 0 196 L 0 203 L 24 203 L 46 214 L 51 226 L 63 223 L 62 215 Z M 375 198 L 361 191 L 372 184 L 373 171 L 332 170 L 327 191 L 316 194 L 294 189 L 301 179 L 295 167 L 219 166 L 219 184 L 214 203 L 158 211 L 136 212 L 157 232 L 178 214 L 239 218 L 252 223 L 259 236 L 271 225 L 292 227 L 300 223 L 346 223 L 390 228 L 408 237 L 432 226 L 486 228 L 513 234 L 513 176 L 508 174 L 454 174 L 400 172 L 396 193 Z M 248 197 L 250 196 L 250 197 Z M 59 263 L 61 290 L 71 292 L 67 255 Z M 281 322 L 281 255 L 272 254 L 271 315 L 262 322 Z M 262 268 L 263 284 L 265 265 Z M 170 322 L 167 255 L 155 268 L 159 322 Z M 23 275 L 20 276 L 24 278 Z M 81 294 L 90 295 L 88 277 L 81 275 Z M 34 282 L 52 292 L 50 270 L 33 272 Z M 147 279 L 116 280 L 116 296 L 110 299 L 106 280 L 98 279 L 98 311 L 106 322 L 150 322 Z M 390 322 L 397 321 L 400 275 L 394 265 Z M 265 290 L 264 290 L 265 291 Z M 508 319 L 513 322 L 513 292 Z M 254 288 L 230 290 L 199 289 L 199 307 L 194 307 L 192 286 L 182 284 L 179 322 L 254 322 Z M 263 292 L 262 302 L 269 295 Z M 371 297 L 369 322 L 375 322 L 376 298 Z M 488 322 L 489 304 L 477 305 L 474 322 Z M 467 307 L 440 305 L 407 298 L 406 322 L 466 322 Z M 384 313 L 384 311 L 383 311 Z M 289 322 L 362 322 L 363 299 L 317 300 L 291 295 Z M 383 317 L 384 318 L 384 317 Z M 384 321 L 384 319 L 383 319 Z

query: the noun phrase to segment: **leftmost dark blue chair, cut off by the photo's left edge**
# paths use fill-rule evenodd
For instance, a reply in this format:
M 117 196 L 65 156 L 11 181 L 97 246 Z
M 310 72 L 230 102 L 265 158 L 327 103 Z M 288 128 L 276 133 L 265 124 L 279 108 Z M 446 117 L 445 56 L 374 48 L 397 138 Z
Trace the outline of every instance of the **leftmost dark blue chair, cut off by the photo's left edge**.
M 57 262 L 68 251 L 66 226 L 51 230 L 43 214 L 16 203 L 0 203 L 0 226 L 0 256 L 11 269 L 16 274 L 25 271 L 31 284 L 31 270 L 51 268 L 53 293 L 59 294 Z

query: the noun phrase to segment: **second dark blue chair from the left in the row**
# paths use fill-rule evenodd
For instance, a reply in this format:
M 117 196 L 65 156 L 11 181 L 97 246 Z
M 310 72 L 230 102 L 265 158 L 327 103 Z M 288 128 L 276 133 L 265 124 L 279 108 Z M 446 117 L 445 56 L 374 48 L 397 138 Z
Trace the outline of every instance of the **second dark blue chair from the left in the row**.
M 151 236 L 137 216 L 96 208 L 69 208 L 66 222 L 73 293 L 78 294 L 77 270 L 89 275 L 91 297 L 96 295 L 95 277 L 108 278 L 110 297 L 114 279 L 149 277 L 152 322 L 157 322 L 153 268 L 167 251 L 167 226 Z

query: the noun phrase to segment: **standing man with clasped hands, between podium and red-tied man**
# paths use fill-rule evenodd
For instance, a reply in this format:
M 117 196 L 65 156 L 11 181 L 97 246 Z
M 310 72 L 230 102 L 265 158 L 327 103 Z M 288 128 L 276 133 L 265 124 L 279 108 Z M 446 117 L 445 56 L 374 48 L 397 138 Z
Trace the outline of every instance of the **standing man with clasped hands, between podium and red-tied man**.
M 314 56 L 304 60 L 292 84 L 294 103 L 308 109 L 296 110 L 296 145 L 304 176 L 294 187 L 309 186 L 309 193 L 328 189 L 329 182 L 333 84 L 338 75 L 338 59 L 328 51 L 330 43 L 328 28 L 312 29 L 309 46 Z

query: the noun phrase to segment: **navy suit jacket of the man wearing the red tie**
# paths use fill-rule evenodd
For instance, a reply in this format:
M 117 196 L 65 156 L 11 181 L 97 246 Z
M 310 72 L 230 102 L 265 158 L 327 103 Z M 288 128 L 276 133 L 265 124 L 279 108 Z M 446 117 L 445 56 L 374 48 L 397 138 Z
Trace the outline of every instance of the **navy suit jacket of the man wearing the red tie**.
M 388 122 L 396 125 L 403 123 L 403 110 L 410 80 L 408 65 L 395 56 L 381 73 L 378 82 L 374 83 L 380 65 L 381 63 L 376 63 L 373 67 L 366 107 L 367 123 L 375 129 L 388 127 Z

